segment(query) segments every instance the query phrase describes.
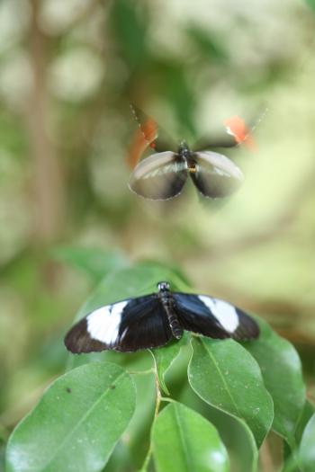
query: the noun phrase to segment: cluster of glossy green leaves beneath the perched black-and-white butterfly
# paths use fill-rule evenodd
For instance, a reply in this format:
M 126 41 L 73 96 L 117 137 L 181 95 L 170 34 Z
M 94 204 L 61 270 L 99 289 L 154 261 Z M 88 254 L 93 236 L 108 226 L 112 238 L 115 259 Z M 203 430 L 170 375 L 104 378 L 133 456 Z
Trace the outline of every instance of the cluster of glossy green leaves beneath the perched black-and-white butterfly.
M 70 251 L 70 254 L 73 257 L 75 253 Z M 82 261 L 83 253 L 76 254 L 78 261 Z M 104 254 L 99 256 L 102 258 Z M 84 265 L 93 275 L 94 268 L 88 261 L 90 252 L 86 252 Z M 190 290 L 177 271 L 160 263 L 139 263 L 124 268 L 118 263 L 117 269 L 100 281 L 78 316 L 111 301 L 149 293 L 161 280 L 170 281 L 173 289 Z M 204 417 L 208 404 L 231 415 L 242 428 L 252 455 L 250 470 L 257 470 L 258 450 L 271 429 L 287 441 L 294 464 L 299 460 L 302 470 L 311 470 L 310 464 L 314 466 L 311 456 L 313 418 L 302 433 L 301 446 L 293 441 L 305 402 L 298 355 L 292 344 L 277 336 L 262 321 L 259 323 L 260 338 L 244 346 L 232 340 L 215 341 L 185 334 L 180 342 L 153 350 L 154 365 L 146 353 L 101 352 L 94 354 L 93 359 L 91 355 L 70 355 L 74 360 L 71 367 L 81 365 L 58 378 L 31 414 L 16 427 L 6 453 L 8 471 L 22 471 L 25 467 L 34 471 L 62 468 L 101 471 L 112 453 L 105 470 L 127 469 L 132 463 L 134 470 L 140 467 L 141 471 L 151 470 L 153 463 L 157 472 L 233 470 L 229 445 L 224 445 L 221 439 L 224 424 L 214 425 L 206 419 L 207 414 Z M 184 405 L 184 398 L 172 381 L 172 364 L 180 359 L 181 348 L 189 350 L 190 343 L 191 359 L 183 369 L 181 382 L 187 387 L 190 385 L 204 402 L 202 408 L 201 404 L 196 404 L 194 409 Z M 141 358 L 146 358 L 148 367 L 151 365 L 149 369 L 139 369 Z M 167 372 L 173 372 L 173 376 L 167 374 L 166 381 Z M 151 444 L 147 443 L 147 450 L 140 452 L 142 466 L 139 458 L 132 459 L 132 448 L 137 444 L 134 435 L 143 431 L 140 428 L 137 432 L 131 422 L 127 435 L 123 434 L 135 408 L 135 389 L 130 375 L 146 379 L 142 391 L 137 392 L 135 417 L 139 415 L 139 407 L 143 414 L 144 401 L 153 414 L 152 398 L 147 396 L 144 400 L 143 389 L 148 390 L 152 376 L 156 376 L 157 381 L 156 414 L 151 416 L 151 426 L 148 426 Z M 146 383 L 147 387 L 143 387 Z M 161 396 L 162 390 L 166 397 Z M 127 437 L 130 437 L 128 441 Z M 121 460 L 118 459 L 120 448 L 124 450 Z

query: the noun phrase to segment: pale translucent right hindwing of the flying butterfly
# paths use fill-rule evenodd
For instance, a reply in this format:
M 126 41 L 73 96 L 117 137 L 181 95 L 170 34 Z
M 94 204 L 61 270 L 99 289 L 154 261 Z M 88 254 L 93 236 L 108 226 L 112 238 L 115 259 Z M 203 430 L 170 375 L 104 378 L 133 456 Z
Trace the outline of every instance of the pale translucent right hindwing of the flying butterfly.
M 195 167 L 190 176 L 204 197 L 227 197 L 244 181 L 241 170 L 228 157 L 211 151 L 193 154 Z

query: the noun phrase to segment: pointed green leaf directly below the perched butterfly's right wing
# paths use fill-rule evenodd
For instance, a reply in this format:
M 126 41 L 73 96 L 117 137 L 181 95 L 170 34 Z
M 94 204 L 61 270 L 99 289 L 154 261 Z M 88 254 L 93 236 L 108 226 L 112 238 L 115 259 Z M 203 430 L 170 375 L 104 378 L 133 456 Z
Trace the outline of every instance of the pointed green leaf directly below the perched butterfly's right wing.
M 257 362 L 238 343 L 193 338 L 188 378 L 205 402 L 244 420 L 259 447 L 273 422 L 273 401 Z

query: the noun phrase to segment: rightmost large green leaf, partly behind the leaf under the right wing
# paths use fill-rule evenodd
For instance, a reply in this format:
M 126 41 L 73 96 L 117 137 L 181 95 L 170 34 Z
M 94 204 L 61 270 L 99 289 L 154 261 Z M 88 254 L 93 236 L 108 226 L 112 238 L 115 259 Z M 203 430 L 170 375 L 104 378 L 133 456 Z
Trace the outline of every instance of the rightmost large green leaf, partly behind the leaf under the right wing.
M 291 343 L 275 334 L 262 320 L 257 322 L 259 338 L 244 346 L 257 360 L 266 388 L 273 397 L 273 429 L 293 448 L 294 432 L 305 402 L 301 361 Z

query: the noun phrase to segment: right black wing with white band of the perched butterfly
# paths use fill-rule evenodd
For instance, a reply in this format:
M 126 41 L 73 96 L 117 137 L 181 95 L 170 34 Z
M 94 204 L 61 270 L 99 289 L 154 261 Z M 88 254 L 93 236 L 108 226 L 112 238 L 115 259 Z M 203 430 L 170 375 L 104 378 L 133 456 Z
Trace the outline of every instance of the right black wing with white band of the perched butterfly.
M 219 298 L 187 293 L 173 293 L 175 312 L 187 331 L 224 339 L 246 340 L 257 338 L 256 321 L 241 309 Z

